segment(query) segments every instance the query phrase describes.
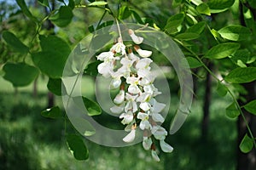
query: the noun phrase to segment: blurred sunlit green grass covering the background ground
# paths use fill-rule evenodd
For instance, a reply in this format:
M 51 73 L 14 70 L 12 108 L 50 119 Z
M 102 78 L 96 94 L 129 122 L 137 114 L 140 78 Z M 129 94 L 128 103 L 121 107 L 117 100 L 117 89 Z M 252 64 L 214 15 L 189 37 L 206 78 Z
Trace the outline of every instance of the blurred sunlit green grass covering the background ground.
M 93 81 L 86 78 L 83 94 L 90 96 Z M 201 139 L 201 96 L 195 100 L 183 127 L 166 139 L 174 150 L 160 153 L 155 162 L 142 144 L 109 148 L 85 140 L 90 151 L 87 161 L 76 161 L 65 142 L 64 122 L 46 119 L 40 112 L 47 105 L 45 80 L 39 80 L 39 94 L 32 87 L 18 93 L 0 78 L 0 169 L 191 169 L 221 170 L 236 168 L 236 121 L 224 116 L 230 99 L 213 97 L 207 139 Z M 173 105 L 177 97 L 172 95 Z M 56 99 L 61 104 L 61 99 Z M 171 107 L 171 112 L 174 111 Z M 171 115 L 172 116 L 172 115 Z M 170 118 L 170 117 L 169 117 Z M 105 120 L 108 122 L 108 120 Z M 164 124 L 168 129 L 169 124 Z

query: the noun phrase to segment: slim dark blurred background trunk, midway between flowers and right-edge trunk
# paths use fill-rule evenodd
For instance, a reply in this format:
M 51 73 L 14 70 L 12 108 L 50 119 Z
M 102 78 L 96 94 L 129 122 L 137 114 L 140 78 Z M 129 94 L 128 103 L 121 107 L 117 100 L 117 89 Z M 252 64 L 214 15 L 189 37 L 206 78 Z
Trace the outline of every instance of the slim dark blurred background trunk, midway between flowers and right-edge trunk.
M 209 69 L 212 69 L 212 64 L 209 63 Z M 210 105 L 212 99 L 212 77 L 209 72 L 207 72 L 207 80 L 205 84 L 205 97 L 203 105 L 203 119 L 201 123 L 201 139 L 207 139 L 208 127 L 209 127 L 209 118 L 210 118 Z

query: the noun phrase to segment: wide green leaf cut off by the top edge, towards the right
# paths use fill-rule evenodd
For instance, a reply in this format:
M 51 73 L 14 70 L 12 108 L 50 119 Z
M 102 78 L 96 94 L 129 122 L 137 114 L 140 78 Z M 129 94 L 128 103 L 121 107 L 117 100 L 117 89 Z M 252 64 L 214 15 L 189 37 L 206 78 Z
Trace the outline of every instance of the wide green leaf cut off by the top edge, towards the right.
M 209 0 L 207 5 L 211 9 L 211 13 L 221 13 L 230 8 L 235 0 Z

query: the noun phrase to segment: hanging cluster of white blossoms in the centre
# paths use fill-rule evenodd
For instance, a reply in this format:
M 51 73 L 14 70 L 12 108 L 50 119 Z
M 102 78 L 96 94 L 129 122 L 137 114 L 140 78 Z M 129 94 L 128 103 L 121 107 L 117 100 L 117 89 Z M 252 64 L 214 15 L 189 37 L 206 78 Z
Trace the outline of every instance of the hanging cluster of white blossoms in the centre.
M 131 29 L 129 35 L 136 44 L 143 42 L 143 37 L 138 37 Z M 153 61 L 148 57 L 151 56 L 152 51 L 134 45 L 139 57 L 131 48 L 127 49 L 128 54 L 126 54 L 125 48 L 122 38 L 119 37 L 118 42 L 108 52 L 97 56 L 97 59 L 103 61 L 98 65 L 98 72 L 103 77 L 112 78 L 110 88 L 119 88 L 119 94 L 113 99 L 115 105 L 110 111 L 120 114 L 122 123 L 127 125 L 125 130 L 129 133 L 123 139 L 127 143 L 135 139 L 139 122 L 138 127 L 143 130 L 143 148 L 151 150 L 154 160 L 160 161 L 152 138 L 160 140 L 160 148 L 164 152 L 172 152 L 173 148 L 164 141 L 167 132 L 159 125 L 165 121 L 160 112 L 166 105 L 154 99 L 161 93 L 154 87 L 155 77 L 150 71 L 150 64 Z

